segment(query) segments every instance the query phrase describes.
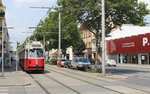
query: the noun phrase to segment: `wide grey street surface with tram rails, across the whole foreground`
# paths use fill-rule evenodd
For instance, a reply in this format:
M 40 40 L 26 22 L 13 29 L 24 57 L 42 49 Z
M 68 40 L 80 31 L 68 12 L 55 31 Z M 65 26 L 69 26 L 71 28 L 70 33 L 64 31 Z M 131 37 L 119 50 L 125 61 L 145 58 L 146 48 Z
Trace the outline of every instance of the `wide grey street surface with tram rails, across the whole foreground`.
M 44 73 L 26 73 L 31 85 L 0 87 L 0 94 L 150 94 L 149 70 L 106 67 L 106 71 L 128 78 L 46 65 Z

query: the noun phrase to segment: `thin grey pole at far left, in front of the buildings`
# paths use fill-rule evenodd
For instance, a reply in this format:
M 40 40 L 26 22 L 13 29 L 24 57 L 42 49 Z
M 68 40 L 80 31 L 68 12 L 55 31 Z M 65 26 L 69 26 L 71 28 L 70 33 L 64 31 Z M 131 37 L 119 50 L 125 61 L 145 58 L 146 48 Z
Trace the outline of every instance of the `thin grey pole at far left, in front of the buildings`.
M 2 77 L 4 77 L 4 20 L 2 19 Z

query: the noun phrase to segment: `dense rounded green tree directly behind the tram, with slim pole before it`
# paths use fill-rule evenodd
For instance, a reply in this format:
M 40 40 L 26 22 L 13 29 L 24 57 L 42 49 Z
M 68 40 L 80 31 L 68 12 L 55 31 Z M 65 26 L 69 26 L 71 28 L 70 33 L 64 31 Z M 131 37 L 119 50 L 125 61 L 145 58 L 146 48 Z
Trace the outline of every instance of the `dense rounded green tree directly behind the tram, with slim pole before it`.
M 61 11 L 60 11 L 61 12 Z M 78 49 L 78 44 L 85 45 L 81 39 L 79 30 L 77 28 L 77 21 L 73 18 L 68 18 L 61 12 L 61 49 L 63 54 L 66 52 L 66 48 L 72 46 Z M 38 28 L 34 31 L 37 40 L 46 40 L 46 50 L 52 48 L 58 48 L 58 11 L 51 12 L 49 16 L 39 23 Z M 78 44 L 77 44 L 78 43 Z M 85 46 L 80 46 L 84 50 Z

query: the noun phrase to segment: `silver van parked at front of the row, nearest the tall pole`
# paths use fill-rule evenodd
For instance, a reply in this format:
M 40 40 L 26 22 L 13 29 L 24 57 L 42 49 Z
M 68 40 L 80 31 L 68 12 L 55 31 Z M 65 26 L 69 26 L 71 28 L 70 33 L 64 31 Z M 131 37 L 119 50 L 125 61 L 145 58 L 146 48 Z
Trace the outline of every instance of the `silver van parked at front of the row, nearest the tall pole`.
M 88 58 L 85 57 L 75 57 L 71 62 L 72 68 L 75 69 L 86 69 L 91 68 L 91 63 Z

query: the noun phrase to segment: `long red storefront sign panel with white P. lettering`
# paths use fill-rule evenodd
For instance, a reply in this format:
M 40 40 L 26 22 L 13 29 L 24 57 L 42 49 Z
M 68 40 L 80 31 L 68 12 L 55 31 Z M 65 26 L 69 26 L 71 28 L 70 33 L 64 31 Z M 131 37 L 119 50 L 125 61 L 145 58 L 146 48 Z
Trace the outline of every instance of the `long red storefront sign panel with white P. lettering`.
M 150 33 L 107 41 L 107 54 L 150 53 Z

